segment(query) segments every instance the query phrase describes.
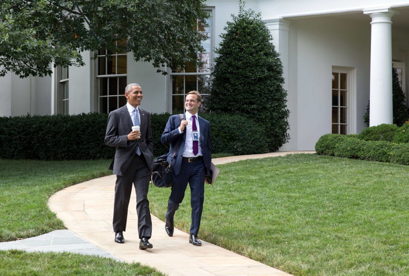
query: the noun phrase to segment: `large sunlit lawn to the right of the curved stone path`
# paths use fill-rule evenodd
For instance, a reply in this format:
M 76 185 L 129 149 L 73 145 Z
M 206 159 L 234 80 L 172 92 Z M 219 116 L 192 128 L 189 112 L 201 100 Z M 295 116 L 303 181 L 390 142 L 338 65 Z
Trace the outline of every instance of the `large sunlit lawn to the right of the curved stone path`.
M 409 167 L 315 154 L 218 165 L 199 238 L 296 276 L 409 275 Z M 170 189 L 153 186 L 164 219 Z M 189 232 L 190 193 L 175 215 Z

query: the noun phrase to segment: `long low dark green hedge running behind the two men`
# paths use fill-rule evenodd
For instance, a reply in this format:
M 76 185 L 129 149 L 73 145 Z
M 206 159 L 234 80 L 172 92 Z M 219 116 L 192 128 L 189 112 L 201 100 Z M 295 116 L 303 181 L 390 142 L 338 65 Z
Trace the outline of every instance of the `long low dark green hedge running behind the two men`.
M 170 114 L 152 114 L 155 156 L 169 146 L 160 137 Z M 255 154 L 267 150 L 263 126 L 240 115 L 201 114 L 211 123 L 212 151 Z M 83 160 L 113 158 L 115 147 L 104 144 L 107 114 L 0 117 L 0 158 Z

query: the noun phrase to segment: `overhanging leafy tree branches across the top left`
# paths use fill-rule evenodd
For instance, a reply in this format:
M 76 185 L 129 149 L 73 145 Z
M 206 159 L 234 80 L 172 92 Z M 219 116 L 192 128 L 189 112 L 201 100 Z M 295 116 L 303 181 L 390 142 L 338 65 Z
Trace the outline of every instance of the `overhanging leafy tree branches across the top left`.
M 133 52 L 164 66 L 196 62 L 204 0 L 0 0 L 0 76 L 50 75 L 82 66 L 81 52 Z M 116 43 L 126 41 L 127 43 Z

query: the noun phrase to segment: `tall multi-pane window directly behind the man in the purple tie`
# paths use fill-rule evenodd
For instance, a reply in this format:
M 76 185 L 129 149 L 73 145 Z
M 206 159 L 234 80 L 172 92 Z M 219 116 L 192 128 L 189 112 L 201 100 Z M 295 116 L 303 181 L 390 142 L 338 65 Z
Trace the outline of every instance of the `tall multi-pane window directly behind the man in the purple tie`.
M 184 100 L 186 94 L 191 90 L 199 91 L 202 95 L 201 109 L 206 107 L 206 97 L 210 90 L 210 66 L 212 60 L 212 11 L 206 11 L 210 17 L 206 20 L 198 20 L 196 29 L 198 32 L 206 36 L 207 39 L 202 41 L 204 52 L 198 53 L 200 64 L 187 63 L 185 68 L 172 68 L 170 73 L 171 78 L 171 93 L 172 106 L 171 113 L 184 112 Z M 207 24 L 204 24 L 207 23 Z M 207 26 L 205 26 L 207 25 Z

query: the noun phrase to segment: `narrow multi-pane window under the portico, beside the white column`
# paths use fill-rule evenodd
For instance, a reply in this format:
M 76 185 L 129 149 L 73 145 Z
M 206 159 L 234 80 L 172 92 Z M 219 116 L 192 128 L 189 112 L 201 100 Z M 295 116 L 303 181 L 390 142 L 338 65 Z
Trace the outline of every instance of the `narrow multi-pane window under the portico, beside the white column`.
M 347 134 L 348 74 L 334 71 L 332 79 L 332 133 Z

